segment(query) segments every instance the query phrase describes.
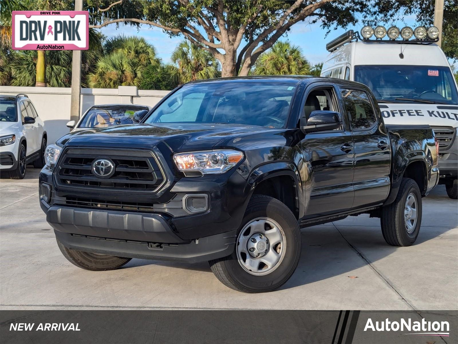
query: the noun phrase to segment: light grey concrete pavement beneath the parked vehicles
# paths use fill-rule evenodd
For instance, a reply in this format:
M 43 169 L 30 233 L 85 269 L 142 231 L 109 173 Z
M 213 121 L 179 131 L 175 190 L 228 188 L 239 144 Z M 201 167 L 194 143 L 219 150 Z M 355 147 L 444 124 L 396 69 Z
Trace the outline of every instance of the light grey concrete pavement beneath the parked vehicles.
M 387 245 L 380 220 L 366 215 L 305 228 L 289 282 L 243 294 L 219 283 L 207 263 L 133 259 L 106 272 L 73 266 L 38 205 L 38 172 L 0 180 L 1 309 L 458 308 L 458 202 L 443 186 L 423 199 L 414 246 Z

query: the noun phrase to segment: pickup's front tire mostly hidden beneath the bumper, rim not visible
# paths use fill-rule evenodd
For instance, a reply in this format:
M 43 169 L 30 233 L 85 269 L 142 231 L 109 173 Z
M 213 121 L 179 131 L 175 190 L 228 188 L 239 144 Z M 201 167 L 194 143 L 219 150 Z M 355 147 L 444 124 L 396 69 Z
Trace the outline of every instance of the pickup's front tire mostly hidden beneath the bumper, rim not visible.
M 128 263 L 131 258 L 115 257 L 114 255 L 100 255 L 97 253 L 84 252 L 79 250 L 71 250 L 66 248 L 56 238 L 57 246 L 60 252 L 73 265 L 81 267 L 84 270 L 90 271 L 107 271 L 119 269 L 121 266 Z

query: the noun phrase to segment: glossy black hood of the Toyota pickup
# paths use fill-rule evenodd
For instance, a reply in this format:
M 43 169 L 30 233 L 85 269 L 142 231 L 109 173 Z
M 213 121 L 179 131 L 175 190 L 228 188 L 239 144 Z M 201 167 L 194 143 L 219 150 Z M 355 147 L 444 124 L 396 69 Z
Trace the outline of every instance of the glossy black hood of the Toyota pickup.
M 143 143 L 160 140 L 165 142 L 174 152 L 191 150 L 209 150 L 220 141 L 231 139 L 248 133 L 262 133 L 265 131 L 278 130 L 259 126 L 247 126 L 241 124 L 215 124 L 215 123 L 155 123 L 118 125 L 108 128 L 89 129 L 71 132 L 61 139 L 60 144 L 67 142 L 75 144 L 129 144 L 131 139 Z

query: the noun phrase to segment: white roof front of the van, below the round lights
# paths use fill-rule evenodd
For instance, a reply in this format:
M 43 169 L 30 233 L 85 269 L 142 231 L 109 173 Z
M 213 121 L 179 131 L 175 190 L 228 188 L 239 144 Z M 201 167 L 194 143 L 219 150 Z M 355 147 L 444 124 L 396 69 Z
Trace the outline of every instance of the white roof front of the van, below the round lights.
M 399 54 L 403 53 L 401 59 Z M 344 63 L 355 65 L 415 65 L 447 66 L 447 58 L 442 49 L 432 44 L 402 44 L 400 42 L 354 41 L 334 50 L 324 63 L 337 66 Z

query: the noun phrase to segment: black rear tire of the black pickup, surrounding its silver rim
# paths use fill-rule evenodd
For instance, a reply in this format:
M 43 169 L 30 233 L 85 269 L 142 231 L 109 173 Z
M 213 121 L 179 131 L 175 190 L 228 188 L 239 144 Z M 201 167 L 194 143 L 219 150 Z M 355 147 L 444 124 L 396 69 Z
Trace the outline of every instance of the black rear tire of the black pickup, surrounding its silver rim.
M 409 233 L 406 227 L 404 209 L 410 194 L 413 194 L 416 198 L 416 222 L 414 222 Z M 392 246 L 410 246 L 413 244 L 418 237 L 418 233 L 420 233 L 421 213 L 421 193 L 418 184 L 413 179 L 403 178 L 396 200 L 392 204 L 382 207 L 380 223 L 382 225 L 383 238 L 387 244 Z

